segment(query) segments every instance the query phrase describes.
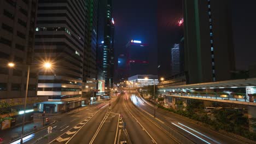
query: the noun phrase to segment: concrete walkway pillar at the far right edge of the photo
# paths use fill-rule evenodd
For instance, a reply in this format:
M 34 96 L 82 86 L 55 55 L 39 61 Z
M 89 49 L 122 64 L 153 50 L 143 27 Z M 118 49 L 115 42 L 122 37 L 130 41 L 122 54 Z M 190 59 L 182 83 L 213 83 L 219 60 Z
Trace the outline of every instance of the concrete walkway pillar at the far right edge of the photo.
M 248 106 L 249 130 L 256 132 L 256 106 Z

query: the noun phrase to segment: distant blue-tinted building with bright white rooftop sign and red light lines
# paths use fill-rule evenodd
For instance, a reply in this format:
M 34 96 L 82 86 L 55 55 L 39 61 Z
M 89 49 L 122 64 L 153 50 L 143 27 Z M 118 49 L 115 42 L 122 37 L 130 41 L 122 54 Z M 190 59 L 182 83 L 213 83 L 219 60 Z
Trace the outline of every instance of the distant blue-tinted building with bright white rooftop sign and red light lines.
M 148 45 L 139 40 L 131 40 L 126 44 L 128 76 L 147 75 Z

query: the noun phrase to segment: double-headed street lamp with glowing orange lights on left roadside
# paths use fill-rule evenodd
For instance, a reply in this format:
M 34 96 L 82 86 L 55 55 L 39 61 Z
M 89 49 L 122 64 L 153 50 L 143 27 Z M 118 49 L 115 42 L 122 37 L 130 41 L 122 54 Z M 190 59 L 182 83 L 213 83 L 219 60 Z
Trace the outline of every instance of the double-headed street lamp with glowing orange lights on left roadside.
M 10 68 L 13 68 L 15 66 L 15 64 L 10 62 L 10 63 L 8 63 L 8 66 Z M 51 63 L 46 62 L 46 63 L 43 64 L 43 67 L 45 69 L 49 69 L 49 68 L 51 68 Z M 30 65 L 28 64 L 27 65 L 27 82 L 26 82 L 26 93 L 25 93 L 24 111 L 26 111 L 26 107 L 27 107 L 27 91 L 28 91 L 28 82 L 29 82 L 29 80 L 30 80 Z M 20 139 L 20 143 L 21 144 L 23 143 L 22 139 L 23 139 L 23 135 L 24 135 L 25 114 L 26 114 L 26 112 L 24 112 L 23 117 L 22 117 L 22 129 L 21 129 L 21 136 L 20 136 L 20 138 L 21 138 Z

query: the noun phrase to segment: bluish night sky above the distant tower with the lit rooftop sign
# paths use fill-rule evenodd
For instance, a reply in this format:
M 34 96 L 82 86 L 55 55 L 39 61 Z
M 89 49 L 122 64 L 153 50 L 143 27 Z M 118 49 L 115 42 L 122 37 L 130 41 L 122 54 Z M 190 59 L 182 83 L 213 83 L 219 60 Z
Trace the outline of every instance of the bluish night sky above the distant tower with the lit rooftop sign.
M 149 73 L 157 74 L 157 1 L 113 0 L 115 19 L 115 54 L 125 54 L 129 40 L 141 40 L 149 45 Z

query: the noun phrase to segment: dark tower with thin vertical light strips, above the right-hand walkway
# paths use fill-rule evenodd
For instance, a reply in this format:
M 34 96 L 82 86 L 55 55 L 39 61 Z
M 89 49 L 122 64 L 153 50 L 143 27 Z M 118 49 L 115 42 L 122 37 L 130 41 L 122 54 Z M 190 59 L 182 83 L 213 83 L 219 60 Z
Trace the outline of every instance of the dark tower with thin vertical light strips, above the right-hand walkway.
M 235 69 L 231 1 L 184 0 L 187 83 L 231 79 Z

